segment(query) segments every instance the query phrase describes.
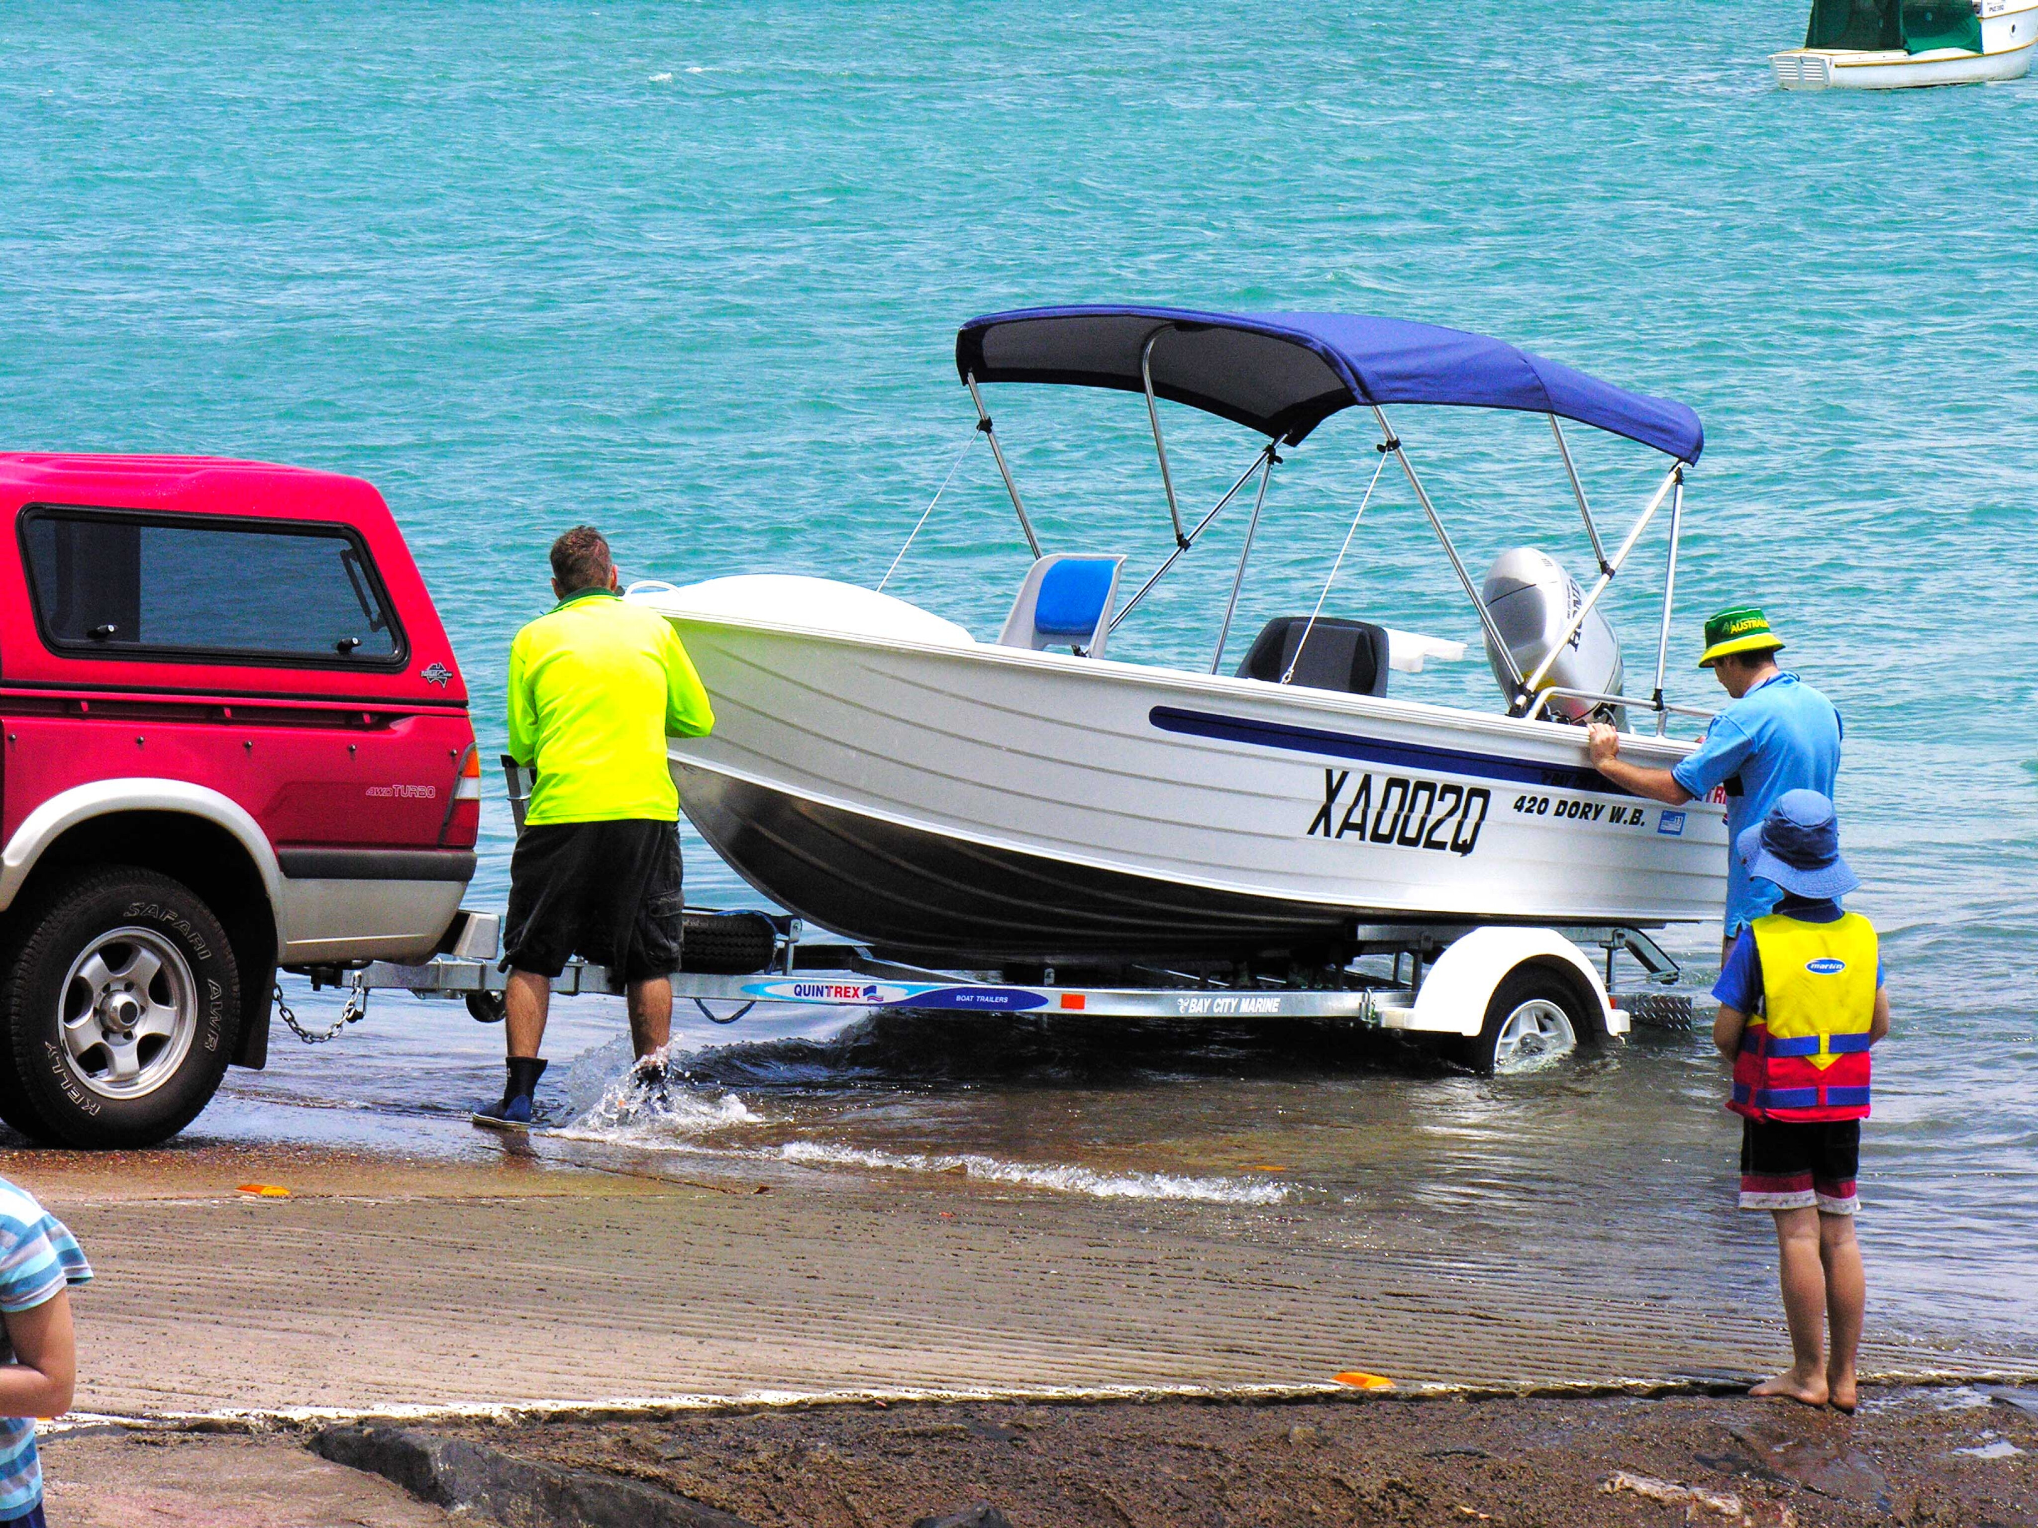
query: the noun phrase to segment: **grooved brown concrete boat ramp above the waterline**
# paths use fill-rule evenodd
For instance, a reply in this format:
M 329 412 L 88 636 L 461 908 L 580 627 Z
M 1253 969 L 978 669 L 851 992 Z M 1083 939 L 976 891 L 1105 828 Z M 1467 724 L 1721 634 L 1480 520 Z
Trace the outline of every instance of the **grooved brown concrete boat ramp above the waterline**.
M 108 1416 L 1300 1389 L 1347 1371 L 1402 1389 L 1726 1383 L 1787 1351 L 1767 1288 L 1522 1267 L 1392 1222 L 1319 1235 L 1298 1206 L 766 1182 L 571 1141 L 459 1161 L 12 1151 L 0 1174 L 98 1269 L 77 1406 Z M 1865 1371 L 2032 1375 L 2038 1343 L 1881 1341 Z

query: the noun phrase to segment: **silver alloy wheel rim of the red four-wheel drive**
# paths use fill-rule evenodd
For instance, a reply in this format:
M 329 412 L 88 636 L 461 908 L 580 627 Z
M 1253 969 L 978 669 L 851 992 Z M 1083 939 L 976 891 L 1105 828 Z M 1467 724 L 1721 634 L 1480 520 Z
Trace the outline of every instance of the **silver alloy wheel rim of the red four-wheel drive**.
M 57 1033 L 71 1076 L 100 1098 L 155 1092 L 198 1033 L 190 962 L 155 929 L 98 935 L 63 978 Z

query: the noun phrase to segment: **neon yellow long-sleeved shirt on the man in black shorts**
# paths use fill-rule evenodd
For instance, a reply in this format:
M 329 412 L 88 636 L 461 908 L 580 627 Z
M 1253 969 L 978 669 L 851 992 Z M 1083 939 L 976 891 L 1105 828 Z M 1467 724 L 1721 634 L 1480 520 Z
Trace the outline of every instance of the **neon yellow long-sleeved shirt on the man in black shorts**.
M 528 827 L 677 821 L 664 740 L 713 725 L 673 623 L 607 589 L 569 595 L 509 644 L 509 754 L 538 768 Z

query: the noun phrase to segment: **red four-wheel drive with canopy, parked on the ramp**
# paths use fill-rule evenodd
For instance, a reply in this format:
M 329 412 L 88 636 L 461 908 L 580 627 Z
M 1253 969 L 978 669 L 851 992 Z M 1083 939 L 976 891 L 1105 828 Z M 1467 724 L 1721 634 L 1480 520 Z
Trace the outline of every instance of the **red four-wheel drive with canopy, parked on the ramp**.
M 422 960 L 475 870 L 467 687 L 359 479 L 0 454 L 0 1116 L 183 1129 L 277 968 Z

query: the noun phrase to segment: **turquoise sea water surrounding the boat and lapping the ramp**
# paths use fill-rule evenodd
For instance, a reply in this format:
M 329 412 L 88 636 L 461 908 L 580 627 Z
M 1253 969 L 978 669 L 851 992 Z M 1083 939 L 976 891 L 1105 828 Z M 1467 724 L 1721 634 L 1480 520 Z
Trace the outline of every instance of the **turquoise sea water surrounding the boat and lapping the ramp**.
M 630 579 L 876 583 L 970 438 L 952 338 L 972 314 L 1374 312 L 1683 399 L 1708 448 L 1673 697 L 1716 695 L 1698 625 L 1753 601 L 1846 717 L 1853 905 L 1895 1011 L 1863 1163 L 1875 1320 L 2030 1351 L 2038 81 L 1781 94 L 1765 55 L 1802 29 L 1802 0 L 8 6 L 0 448 L 371 479 L 493 758 L 509 636 L 575 522 Z M 1050 548 L 1156 566 L 1137 399 L 993 405 Z M 1590 566 L 1541 422 L 1396 426 L 1473 568 L 1522 542 Z M 1255 444 L 1174 407 L 1168 430 L 1200 503 Z M 1571 442 L 1624 526 L 1657 458 Z M 1315 603 L 1378 460 L 1355 416 L 1288 456 L 1235 632 Z M 1206 662 L 1241 530 L 1221 522 L 1113 656 Z M 1661 548 L 1608 601 L 1634 676 Z M 1023 570 L 978 448 L 891 593 L 982 636 Z M 1325 609 L 1478 634 L 1388 479 Z M 1408 693 L 1498 707 L 1476 658 Z M 491 797 L 475 901 L 503 896 L 507 848 Z M 689 892 L 750 901 L 697 839 Z M 1714 941 L 1679 943 L 1694 990 Z M 1396 1216 L 1439 1247 L 1767 1302 L 1702 1035 L 1476 1080 L 1333 1033 L 972 1023 L 691 1017 L 693 1088 L 630 1110 L 603 1104 L 620 1013 L 562 1002 L 546 1098 L 642 1171 L 946 1171 L 1353 1247 Z M 465 1110 L 497 1045 L 457 1006 L 379 998 L 328 1047 L 277 1031 L 194 1137 L 485 1151 Z

